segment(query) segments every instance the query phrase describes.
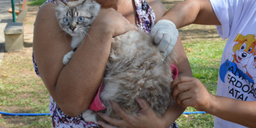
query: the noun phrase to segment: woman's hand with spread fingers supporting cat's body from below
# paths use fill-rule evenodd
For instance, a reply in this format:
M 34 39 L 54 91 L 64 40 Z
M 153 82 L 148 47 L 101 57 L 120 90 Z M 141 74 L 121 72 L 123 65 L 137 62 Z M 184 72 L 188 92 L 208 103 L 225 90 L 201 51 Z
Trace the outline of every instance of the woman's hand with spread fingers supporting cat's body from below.
M 116 102 L 111 102 L 114 112 L 117 112 L 119 117 L 122 119 L 113 119 L 111 117 L 107 117 L 104 114 L 100 114 L 100 117 L 105 119 L 110 124 L 117 126 L 117 127 L 132 127 L 132 128 L 139 128 L 139 127 L 146 127 L 146 128 L 155 128 L 155 127 L 164 127 L 165 122 L 164 119 L 161 119 L 156 113 L 151 109 L 149 103 L 142 99 L 136 100 L 139 103 L 139 106 L 142 110 L 139 110 L 137 114 L 127 114 L 125 113 Z M 98 122 L 102 127 L 105 128 L 112 128 L 114 126 L 110 124 L 105 124 L 104 122 Z

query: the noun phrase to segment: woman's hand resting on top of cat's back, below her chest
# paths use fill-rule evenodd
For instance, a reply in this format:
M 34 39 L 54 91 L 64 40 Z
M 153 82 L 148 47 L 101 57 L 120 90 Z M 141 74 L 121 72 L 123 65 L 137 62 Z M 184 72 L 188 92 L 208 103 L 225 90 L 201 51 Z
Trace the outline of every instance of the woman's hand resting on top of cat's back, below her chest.
M 93 24 L 97 24 L 93 26 Z M 101 28 L 102 31 L 112 33 L 112 36 L 118 36 L 129 30 L 137 29 L 136 26 L 129 23 L 127 18 L 119 14 L 114 9 L 101 9 L 92 28 Z

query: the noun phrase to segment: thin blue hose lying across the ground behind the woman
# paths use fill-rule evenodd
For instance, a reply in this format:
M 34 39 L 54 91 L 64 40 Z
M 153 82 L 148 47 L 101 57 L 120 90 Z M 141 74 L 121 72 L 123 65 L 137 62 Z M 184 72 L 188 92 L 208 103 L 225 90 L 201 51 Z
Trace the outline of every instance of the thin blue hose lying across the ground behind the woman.
M 205 114 L 206 112 L 183 112 L 183 114 Z M 50 115 L 50 113 L 8 113 L 1 112 L 0 114 L 9 115 L 9 116 L 46 116 Z

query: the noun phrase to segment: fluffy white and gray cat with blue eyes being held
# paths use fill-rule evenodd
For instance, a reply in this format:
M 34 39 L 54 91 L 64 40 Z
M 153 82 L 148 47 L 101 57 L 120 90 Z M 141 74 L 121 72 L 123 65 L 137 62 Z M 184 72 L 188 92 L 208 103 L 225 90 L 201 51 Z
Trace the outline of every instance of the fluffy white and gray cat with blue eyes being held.
M 100 11 L 100 4 L 94 0 L 70 1 L 66 4 L 57 0 L 56 16 L 60 27 L 72 36 L 71 47 L 77 48 L 85 38 L 86 32 Z M 63 58 L 67 64 L 74 51 Z M 170 55 L 169 55 L 170 56 Z M 117 102 L 128 114 L 140 110 L 135 101 L 144 98 L 153 110 L 161 116 L 171 103 L 172 73 L 170 58 L 154 46 L 149 34 L 143 31 L 129 31 L 112 38 L 110 58 L 107 61 L 104 88 L 100 99 L 107 107 L 105 114 L 117 117 L 110 100 Z M 83 117 L 86 121 L 97 122 L 96 113 L 87 110 Z

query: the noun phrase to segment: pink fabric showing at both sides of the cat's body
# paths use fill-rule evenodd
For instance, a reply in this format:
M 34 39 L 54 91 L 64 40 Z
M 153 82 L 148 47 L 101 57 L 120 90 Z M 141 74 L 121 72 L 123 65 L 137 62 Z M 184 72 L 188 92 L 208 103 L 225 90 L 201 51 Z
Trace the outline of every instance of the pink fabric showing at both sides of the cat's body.
M 176 79 L 178 77 L 178 68 L 174 64 L 170 64 L 171 72 L 173 74 L 173 79 Z M 100 92 L 102 92 L 103 89 L 103 82 L 100 85 L 99 90 L 97 91 L 97 95 L 95 96 L 95 99 L 92 101 L 92 104 L 90 105 L 89 109 L 93 110 L 95 112 L 98 112 L 100 110 L 105 110 L 107 107 L 103 105 L 102 101 L 100 100 Z

